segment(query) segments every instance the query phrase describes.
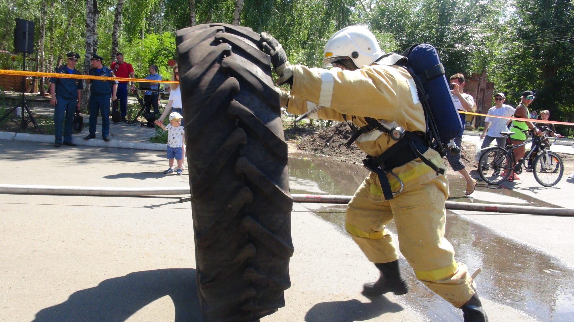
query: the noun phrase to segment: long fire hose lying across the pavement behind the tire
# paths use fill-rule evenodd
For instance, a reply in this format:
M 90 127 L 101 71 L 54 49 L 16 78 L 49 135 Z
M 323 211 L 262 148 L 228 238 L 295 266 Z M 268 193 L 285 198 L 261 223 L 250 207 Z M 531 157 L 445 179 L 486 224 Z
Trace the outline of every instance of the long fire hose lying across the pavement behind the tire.
M 75 187 L 75 186 L 30 186 L 24 184 L 0 184 L 0 194 L 35 195 L 84 195 L 107 197 L 141 197 L 153 195 L 188 195 L 189 187 L 117 188 L 117 187 Z M 347 204 L 350 195 L 291 194 L 294 202 Z M 180 202 L 191 201 L 191 197 L 180 198 Z M 510 213 L 528 215 L 551 215 L 574 217 L 574 209 L 499 205 L 447 201 L 448 210 L 483 211 L 487 213 Z

